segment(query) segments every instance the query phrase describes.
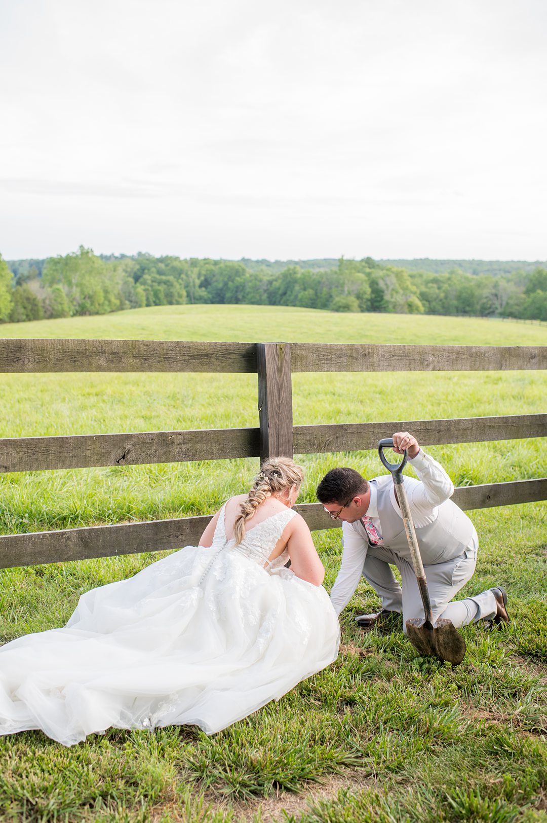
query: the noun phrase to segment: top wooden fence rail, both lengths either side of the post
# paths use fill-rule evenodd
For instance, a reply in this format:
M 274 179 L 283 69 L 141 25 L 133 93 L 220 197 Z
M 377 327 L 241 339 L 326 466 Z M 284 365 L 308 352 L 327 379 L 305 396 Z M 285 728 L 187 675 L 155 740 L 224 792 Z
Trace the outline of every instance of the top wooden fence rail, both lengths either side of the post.
M 293 372 L 547 368 L 547 346 L 291 343 L 290 348 Z M 257 344 L 178 340 L 0 340 L 0 372 L 102 371 L 256 374 Z

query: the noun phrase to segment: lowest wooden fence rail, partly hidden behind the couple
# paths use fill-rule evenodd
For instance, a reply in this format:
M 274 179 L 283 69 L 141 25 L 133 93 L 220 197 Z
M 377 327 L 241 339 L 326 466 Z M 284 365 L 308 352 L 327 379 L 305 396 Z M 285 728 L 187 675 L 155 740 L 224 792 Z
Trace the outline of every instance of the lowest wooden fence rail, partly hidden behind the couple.
M 547 500 L 547 477 L 464 486 L 456 489 L 452 500 L 461 509 L 486 509 L 490 506 Z M 341 528 L 341 523 L 332 520 L 319 503 L 305 503 L 295 509 L 302 514 L 312 531 Z M 177 518 L 4 535 L 0 537 L 0 568 L 196 546 L 210 519 Z

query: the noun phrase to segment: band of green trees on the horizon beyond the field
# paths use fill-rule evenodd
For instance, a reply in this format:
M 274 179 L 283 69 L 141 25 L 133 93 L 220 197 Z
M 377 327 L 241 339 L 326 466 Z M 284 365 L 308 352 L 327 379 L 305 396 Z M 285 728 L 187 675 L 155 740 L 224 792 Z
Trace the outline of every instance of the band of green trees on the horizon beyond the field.
M 251 267 L 249 264 L 253 263 Z M 547 321 L 547 269 L 472 275 L 408 271 L 373 258 L 328 267 L 267 261 L 76 252 L 42 260 L 0 255 L 0 322 L 194 303 L 300 306 L 338 312 L 457 314 Z

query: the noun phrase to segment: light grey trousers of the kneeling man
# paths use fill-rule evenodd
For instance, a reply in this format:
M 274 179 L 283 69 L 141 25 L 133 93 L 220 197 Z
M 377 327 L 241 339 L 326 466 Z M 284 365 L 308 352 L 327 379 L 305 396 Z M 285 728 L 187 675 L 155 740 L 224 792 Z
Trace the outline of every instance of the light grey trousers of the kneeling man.
M 497 605 L 491 591 L 482 592 L 465 600 L 451 602 L 460 589 L 471 579 L 475 571 L 477 558 L 477 540 L 474 537 L 466 551 L 453 560 L 424 566 L 428 581 L 433 623 L 443 616 L 457 628 L 478 620 L 494 617 Z M 397 582 L 391 569 L 396 565 L 401 572 L 401 585 Z M 382 608 L 398 611 L 406 621 L 412 617 L 424 618 L 424 606 L 420 597 L 420 588 L 412 564 L 396 556 L 384 546 L 370 546 L 363 567 L 364 578 L 382 597 Z

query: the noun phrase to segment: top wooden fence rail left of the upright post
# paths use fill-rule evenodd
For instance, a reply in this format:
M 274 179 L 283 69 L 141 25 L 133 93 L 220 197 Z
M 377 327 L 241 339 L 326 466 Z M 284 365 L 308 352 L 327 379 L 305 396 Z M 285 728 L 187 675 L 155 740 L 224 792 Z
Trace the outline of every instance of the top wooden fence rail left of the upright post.
M 256 372 L 255 343 L 0 340 L 0 372 Z

